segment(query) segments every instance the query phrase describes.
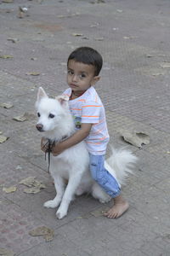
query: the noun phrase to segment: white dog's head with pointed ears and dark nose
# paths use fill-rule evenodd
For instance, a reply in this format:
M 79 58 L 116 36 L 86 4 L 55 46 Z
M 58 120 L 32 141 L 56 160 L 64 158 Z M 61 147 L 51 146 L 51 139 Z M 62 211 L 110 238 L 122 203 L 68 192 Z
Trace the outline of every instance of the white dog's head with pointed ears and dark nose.
M 53 131 L 62 119 L 65 119 L 65 113 L 68 113 L 68 96 L 57 96 L 55 99 L 49 98 L 46 92 L 39 88 L 37 92 L 37 130 Z

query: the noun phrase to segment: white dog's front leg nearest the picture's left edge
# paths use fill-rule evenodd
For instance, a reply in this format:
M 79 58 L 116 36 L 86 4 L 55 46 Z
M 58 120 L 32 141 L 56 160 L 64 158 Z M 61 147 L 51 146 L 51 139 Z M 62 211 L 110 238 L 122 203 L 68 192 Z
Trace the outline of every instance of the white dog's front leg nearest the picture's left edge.
M 65 183 L 62 177 L 55 177 L 54 178 L 54 186 L 56 189 L 57 195 L 55 196 L 54 200 L 46 201 L 43 206 L 47 208 L 55 208 L 59 206 L 59 203 L 62 199 L 62 196 L 65 191 Z

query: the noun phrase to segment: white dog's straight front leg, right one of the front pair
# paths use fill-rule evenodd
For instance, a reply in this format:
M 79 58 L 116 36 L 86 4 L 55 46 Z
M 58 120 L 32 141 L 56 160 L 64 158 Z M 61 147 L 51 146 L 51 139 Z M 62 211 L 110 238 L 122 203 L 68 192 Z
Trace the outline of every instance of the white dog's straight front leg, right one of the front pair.
M 65 194 L 63 195 L 63 199 L 60 203 L 59 209 L 56 212 L 57 218 L 63 218 L 67 214 L 68 207 L 70 202 L 73 200 L 73 197 L 76 193 L 77 187 L 81 181 L 82 175 L 72 176 L 69 179 L 69 183 L 65 189 Z

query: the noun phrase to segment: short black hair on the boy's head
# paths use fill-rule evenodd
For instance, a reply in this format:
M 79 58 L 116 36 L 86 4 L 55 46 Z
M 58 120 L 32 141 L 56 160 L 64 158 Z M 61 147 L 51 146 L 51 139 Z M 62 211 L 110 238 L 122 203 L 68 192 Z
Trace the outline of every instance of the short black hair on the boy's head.
M 69 61 L 74 60 L 77 62 L 82 62 L 83 64 L 92 65 L 95 68 L 94 76 L 98 76 L 103 65 L 102 56 L 96 49 L 90 47 L 79 47 L 71 52 L 68 58 L 67 66 Z

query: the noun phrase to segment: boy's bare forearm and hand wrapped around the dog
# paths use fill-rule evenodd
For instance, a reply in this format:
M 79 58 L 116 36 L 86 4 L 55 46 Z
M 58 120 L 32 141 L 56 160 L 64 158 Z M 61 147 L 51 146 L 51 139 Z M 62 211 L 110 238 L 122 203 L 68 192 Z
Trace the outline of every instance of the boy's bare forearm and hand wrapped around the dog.
M 69 137 L 65 141 L 54 145 L 54 147 L 52 148 L 52 154 L 53 155 L 61 154 L 65 149 L 71 148 L 77 143 L 82 142 L 86 137 L 88 137 L 88 134 L 92 128 L 92 125 L 93 124 L 82 123 L 82 127 L 80 130 L 78 130 L 76 133 L 74 133 L 71 137 Z

